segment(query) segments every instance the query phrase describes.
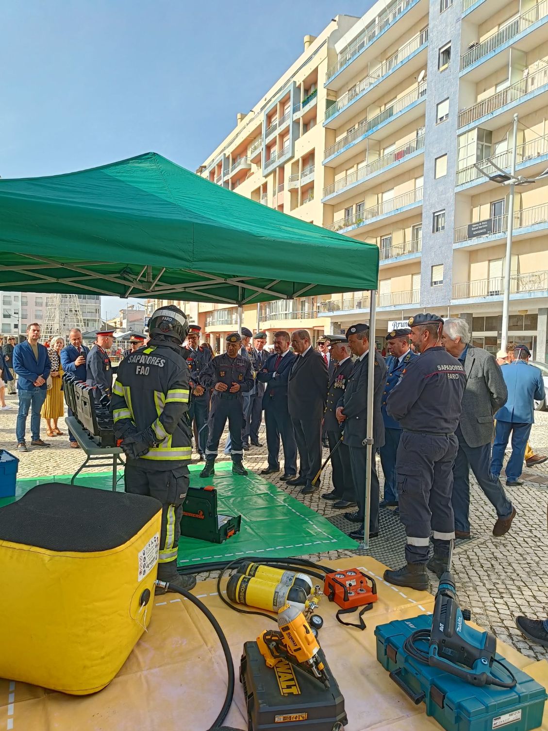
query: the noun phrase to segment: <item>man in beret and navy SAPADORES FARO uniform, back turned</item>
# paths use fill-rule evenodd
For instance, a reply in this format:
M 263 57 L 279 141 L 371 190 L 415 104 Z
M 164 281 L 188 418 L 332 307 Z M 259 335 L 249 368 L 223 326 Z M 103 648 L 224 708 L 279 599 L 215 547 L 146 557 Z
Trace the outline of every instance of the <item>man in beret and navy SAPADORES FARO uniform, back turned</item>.
M 441 346 L 441 317 L 421 313 L 409 318 L 409 327 L 411 341 L 421 355 L 404 368 L 387 399 L 388 415 L 403 429 L 396 469 L 407 564 L 396 571 L 387 569 L 384 579 L 397 586 L 425 589 L 430 533 L 434 543 L 431 563 L 440 572 L 447 566 L 454 540 L 451 495 L 459 446 L 454 432 L 466 379 L 462 363 Z

